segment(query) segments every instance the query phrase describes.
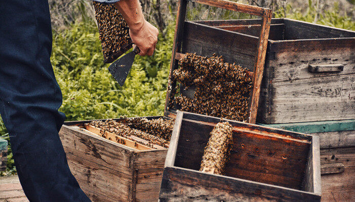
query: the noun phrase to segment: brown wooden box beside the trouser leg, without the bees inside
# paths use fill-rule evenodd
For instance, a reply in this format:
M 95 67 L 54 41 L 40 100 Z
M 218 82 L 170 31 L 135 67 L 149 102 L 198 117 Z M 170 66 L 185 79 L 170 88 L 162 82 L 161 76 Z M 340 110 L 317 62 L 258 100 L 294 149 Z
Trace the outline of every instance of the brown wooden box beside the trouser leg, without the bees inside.
M 167 149 L 138 150 L 116 143 L 86 130 L 89 122 L 65 122 L 59 132 L 70 170 L 89 198 L 157 201 Z

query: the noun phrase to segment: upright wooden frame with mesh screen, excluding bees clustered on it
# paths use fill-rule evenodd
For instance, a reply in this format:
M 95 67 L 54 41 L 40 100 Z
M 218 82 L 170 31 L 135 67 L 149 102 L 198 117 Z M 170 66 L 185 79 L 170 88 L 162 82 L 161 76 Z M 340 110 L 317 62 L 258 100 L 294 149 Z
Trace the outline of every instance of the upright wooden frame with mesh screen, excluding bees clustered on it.
M 227 16 L 231 15 L 231 18 L 259 18 L 259 30 L 254 32 L 257 36 L 226 31 L 189 20 L 191 15 L 197 14 L 201 19 L 212 15 L 212 18 L 224 19 L 220 22 L 230 21 L 225 20 L 225 16 L 218 16 L 218 11 L 224 11 Z M 271 16 L 271 9 L 225 0 L 179 0 L 164 115 L 174 118 L 176 110 L 181 110 L 176 107 L 169 108 L 169 103 L 171 89 L 176 86 L 173 71 L 179 67 L 179 60 L 184 54 L 196 53 L 202 57 L 217 54 L 222 56 L 225 62 L 238 64 L 248 70 L 247 76 L 251 77 L 253 84 L 246 122 L 256 123 Z M 193 86 L 188 89 L 181 88 L 181 94 L 192 98 L 194 90 Z

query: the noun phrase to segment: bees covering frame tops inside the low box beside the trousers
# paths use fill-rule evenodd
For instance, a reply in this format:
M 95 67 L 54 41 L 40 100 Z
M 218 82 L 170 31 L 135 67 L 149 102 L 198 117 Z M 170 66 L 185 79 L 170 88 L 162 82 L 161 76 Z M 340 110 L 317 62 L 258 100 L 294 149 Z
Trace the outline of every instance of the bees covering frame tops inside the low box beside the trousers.
M 151 148 L 154 148 L 155 144 L 168 148 L 173 128 L 172 120 L 163 120 L 161 118 L 157 120 L 133 118 L 126 119 L 123 122 L 117 122 L 112 119 L 108 119 L 106 121 L 91 121 L 89 124 L 95 128 L 99 128 L 100 135 L 104 138 L 107 138 L 105 136 L 105 132 L 111 132 Z M 159 126 L 162 126 L 162 128 L 159 128 Z M 132 136 L 139 137 L 140 139 L 147 140 L 148 142 L 137 141 Z M 121 139 L 116 139 L 113 141 L 124 144 L 124 142 L 121 142 Z

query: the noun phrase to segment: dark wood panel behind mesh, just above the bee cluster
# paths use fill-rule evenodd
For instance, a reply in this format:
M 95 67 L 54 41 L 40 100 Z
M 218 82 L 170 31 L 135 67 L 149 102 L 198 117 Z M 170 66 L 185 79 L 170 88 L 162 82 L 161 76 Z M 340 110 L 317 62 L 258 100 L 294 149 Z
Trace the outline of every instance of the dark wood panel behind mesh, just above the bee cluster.
M 185 22 L 181 53 L 196 53 L 211 57 L 223 56 L 228 63 L 235 63 L 254 71 L 258 38 L 237 32 Z

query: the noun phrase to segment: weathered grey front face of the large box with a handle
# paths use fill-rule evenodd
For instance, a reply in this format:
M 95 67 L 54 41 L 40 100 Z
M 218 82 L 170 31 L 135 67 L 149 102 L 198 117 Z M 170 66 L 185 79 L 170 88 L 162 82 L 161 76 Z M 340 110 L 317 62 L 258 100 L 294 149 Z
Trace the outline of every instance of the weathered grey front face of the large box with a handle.
M 271 124 L 354 117 L 355 102 L 351 91 L 354 88 L 354 53 L 355 38 L 269 41 L 257 121 Z M 327 64 L 342 64 L 343 71 L 308 70 L 309 65 Z M 323 85 L 319 86 L 319 82 Z M 287 87 L 277 89 L 278 86 L 285 86 L 285 83 Z M 297 101 L 300 98 L 297 88 L 302 85 L 305 96 L 301 96 L 305 99 L 305 105 Z M 310 90 L 307 89 L 309 86 Z M 325 91 L 322 91 L 324 86 Z M 278 93 L 286 89 L 296 89 L 298 92 L 293 91 L 287 95 L 288 98 L 278 101 Z M 293 111 L 289 111 L 291 107 Z M 295 111 L 298 113 L 294 114 Z

